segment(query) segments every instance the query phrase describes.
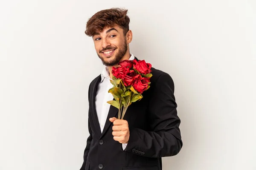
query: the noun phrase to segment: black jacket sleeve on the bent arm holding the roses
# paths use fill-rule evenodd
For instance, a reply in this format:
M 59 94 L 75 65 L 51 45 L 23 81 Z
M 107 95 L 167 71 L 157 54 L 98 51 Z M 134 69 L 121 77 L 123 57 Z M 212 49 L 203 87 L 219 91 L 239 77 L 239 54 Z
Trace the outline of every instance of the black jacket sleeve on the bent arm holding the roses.
M 152 131 L 131 128 L 125 151 L 151 158 L 179 153 L 182 141 L 176 108 L 174 82 L 169 74 L 164 73 L 157 79 L 148 103 L 149 126 Z

